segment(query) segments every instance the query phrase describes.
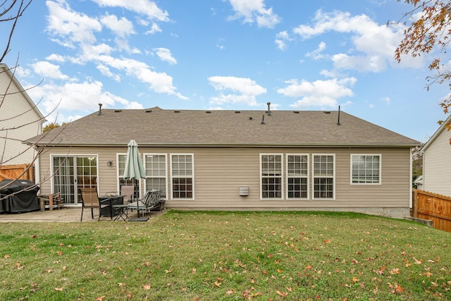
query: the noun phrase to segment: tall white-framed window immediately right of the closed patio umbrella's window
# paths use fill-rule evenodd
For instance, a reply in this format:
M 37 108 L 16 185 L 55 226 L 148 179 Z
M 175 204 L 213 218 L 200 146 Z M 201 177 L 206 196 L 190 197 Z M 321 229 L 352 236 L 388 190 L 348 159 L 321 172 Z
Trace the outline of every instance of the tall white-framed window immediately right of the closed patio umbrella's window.
M 194 199 L 192 154 L 171 154 L 173 199 Z

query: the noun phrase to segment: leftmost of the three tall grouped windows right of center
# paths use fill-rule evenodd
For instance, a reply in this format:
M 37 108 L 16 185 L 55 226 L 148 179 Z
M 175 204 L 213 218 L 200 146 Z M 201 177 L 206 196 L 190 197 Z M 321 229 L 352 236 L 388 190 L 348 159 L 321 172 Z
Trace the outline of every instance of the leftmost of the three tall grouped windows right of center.
M 261 154 L 261 198 L 282 198 L 282 155 Z

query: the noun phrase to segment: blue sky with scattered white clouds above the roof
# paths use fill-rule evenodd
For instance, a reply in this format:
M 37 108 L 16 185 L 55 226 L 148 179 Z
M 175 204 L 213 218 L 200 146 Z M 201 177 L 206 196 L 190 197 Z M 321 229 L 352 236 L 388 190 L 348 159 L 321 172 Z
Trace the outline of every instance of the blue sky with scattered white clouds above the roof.
M 426 142 L 446 85 L 394 60 L 395 0 L 35 0 L 8 66 L 49 121 L 104 109 L 337 110 Z M 5 28 L 0 27 L 0 30 Z M 58 116 L 56 116 L 58 113 Z M 371 133 L 368 133 L 370 136 Z

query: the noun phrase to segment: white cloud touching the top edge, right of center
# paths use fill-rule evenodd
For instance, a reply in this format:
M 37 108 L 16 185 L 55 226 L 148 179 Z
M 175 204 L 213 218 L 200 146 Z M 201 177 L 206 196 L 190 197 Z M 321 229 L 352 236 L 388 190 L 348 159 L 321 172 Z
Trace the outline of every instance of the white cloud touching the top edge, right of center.
M 223 0 L 224 1 L 224 0 Z M 244 18 L 244 23 L 257 22 L 259 27 L 273 28 L 280 23 L 280 17 L 273 13 L 273 8 L 266 8 L 264 0 L 228 0 L 235 11 L 229 20 Z

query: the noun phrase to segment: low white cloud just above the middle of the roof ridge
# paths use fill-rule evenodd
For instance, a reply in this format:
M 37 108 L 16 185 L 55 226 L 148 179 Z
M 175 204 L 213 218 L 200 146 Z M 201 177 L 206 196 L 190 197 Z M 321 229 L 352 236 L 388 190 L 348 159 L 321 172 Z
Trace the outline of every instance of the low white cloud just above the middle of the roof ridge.
M 217 97 L 211 97 L 210 104 L 236 104 L 242 103 L 248 106 L 257 106 L 257 96 L 266 93 L 266 89 L 257 85 L 250 78 L 236 78 L 234 76 L 211 76 L 210 85 L 219 91 Z M 231 91 L 224 94 L 223 91 Z

